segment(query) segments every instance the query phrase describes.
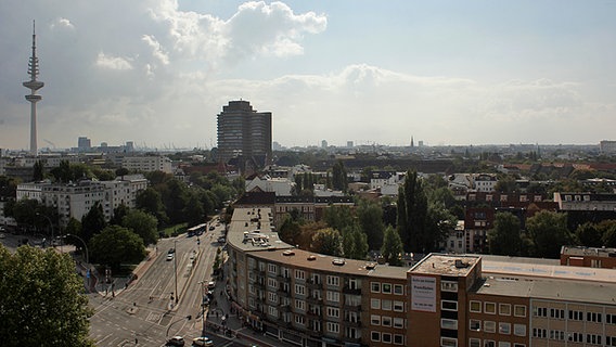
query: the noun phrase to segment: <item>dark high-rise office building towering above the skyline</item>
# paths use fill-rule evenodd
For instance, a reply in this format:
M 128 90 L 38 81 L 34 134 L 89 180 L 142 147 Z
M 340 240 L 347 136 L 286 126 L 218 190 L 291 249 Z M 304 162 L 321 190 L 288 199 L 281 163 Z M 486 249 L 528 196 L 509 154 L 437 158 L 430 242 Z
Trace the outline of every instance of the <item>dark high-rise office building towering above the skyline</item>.
M 230 101 L 218 115 L 218 159 L 254 160 L 264 166 L 271 159 L 271 112 L 256 112 L 248 101 Z

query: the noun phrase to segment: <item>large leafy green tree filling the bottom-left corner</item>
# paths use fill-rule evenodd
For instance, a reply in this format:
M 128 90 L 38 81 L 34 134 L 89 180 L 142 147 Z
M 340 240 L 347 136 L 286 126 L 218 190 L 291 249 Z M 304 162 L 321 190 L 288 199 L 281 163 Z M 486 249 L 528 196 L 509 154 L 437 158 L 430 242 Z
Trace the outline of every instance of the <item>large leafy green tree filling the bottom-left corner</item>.
M 2 346 L 94 346 L 93 311 L 67 254 L 0 245 L 0 277 Z

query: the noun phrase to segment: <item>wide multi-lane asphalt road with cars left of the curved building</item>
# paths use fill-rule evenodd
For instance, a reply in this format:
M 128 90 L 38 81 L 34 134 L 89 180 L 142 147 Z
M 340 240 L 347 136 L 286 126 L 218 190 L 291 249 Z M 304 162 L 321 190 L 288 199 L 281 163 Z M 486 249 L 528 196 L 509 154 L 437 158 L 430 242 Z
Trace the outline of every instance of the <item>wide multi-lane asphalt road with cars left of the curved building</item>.
M 193 337 L 201 336 L 203 285 L 211 278 L 222 231 L 222 226 L 206 231 L 198 237 L 200 244 L 196 236 L 161 240 L 136 282 L 126 288 L 116 286 L 113 295 L 107 288 L 104 296 L 104 285 L 98 287 L 99 294 L 90 294 L 94 308 L 90 337 L 97 346 L 162 346 L 175 335 L 183 336 L 190 346 Z M 167 260 L 170 248 L 176 248 L 175 258 Z M 216 346 L 234 346 L 230 340 L 211 338 Z

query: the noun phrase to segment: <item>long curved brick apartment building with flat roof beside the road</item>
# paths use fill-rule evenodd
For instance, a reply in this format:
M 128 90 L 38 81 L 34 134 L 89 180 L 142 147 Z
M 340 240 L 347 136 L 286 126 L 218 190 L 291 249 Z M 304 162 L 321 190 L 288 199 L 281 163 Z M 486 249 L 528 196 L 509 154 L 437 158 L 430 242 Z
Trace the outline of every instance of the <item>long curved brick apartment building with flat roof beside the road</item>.
M 431 254 L 413 267 L 319 255 L 235 208 L 229 293 L 253 327 L 296 346 L 616 346 L 616 275 L 557 260 Z

